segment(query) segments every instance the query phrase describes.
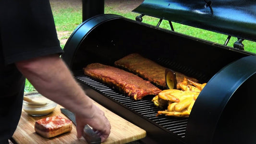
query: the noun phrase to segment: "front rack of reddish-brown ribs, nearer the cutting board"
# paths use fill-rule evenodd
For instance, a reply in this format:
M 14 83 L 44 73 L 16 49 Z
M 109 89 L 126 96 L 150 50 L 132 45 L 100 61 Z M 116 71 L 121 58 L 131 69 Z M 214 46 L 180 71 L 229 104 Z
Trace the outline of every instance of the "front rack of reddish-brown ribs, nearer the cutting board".
M 139 100 L 147 95 L 158 95 L 161 91 L 149 81 L 145 81 L 133 73 L 100 63 L 87 65 L 84 72 L 85 75 L 119 89 L 134 100 Z

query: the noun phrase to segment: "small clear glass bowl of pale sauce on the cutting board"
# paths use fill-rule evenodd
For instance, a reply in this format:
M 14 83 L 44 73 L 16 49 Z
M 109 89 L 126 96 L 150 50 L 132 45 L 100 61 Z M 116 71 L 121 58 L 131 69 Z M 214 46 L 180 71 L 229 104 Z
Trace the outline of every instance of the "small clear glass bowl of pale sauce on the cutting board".
M 38 92 L 30 92 L 24 94 L 24 96 L 29 97 L 32 100 L 46 103 L 46 104 L 33 104 L 23 101 L 23 110 L 31 116 L 45 116 L 51 113 L 57 106 L 57 103 L 49 100 L 48 98 L 42 96 Z

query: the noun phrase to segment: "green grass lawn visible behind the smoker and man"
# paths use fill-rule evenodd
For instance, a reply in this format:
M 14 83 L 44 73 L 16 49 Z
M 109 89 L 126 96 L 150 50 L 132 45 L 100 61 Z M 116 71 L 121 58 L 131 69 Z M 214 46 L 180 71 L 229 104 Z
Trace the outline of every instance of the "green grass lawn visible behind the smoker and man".
M 127 12 L 127 13 L 118 12 L 113 7 L 105 7 L 105 13 L 118 14 L 118 15 L 122 15 L 126 18 L 133 19 L 133 20 L 135 20 L 135 17 L 139 15 L 138 13 L 134 13 L 134 12 Z M 82 9 L 74 9 L 74 8 L 69 8 L 69 7 L 66 9 L 53 8 L 53 16 L 54 16 L 56 29 L 58 32 L 69 31 L 70 33 L 72 33 L 73 30 L 79 24 L 82 23 Z M 146 23 L 146 24 L 157 25 L 158 21 L 159 21 L 159 19 L 153 18 L 150 16 L 143 17 L 143 23 Z M 172 25 L 174 27 L 174 31 L 176 31 L 176 32 L 179 32 L 179 33 L 182 33 L 185 35 L 189 35 L 189 36 L 195 36 L 195 37 L 205 39 L 208 41 L 212 41 L 215 43 L 224 44 L 227 39 L 226 35 L 198 29 L 195 27 L 178 24 L 178 23 L 172 23 Z M 159 27 L 171 30 L 169 22 L 165 21 L 165 20 L 162 21 L 162 23 L 159 25 Z M 67 36 L 59 37 L 60 40 L 64 39 L 64 38 L 68 38 L 68 37 Z M 233 43 L 236 40 L 237 40 L 237 38 L 232 37 L 230 42 L 228 43 L 228 46 L 233 47 Z M 246 51 L 256 53 L 256 42 L 244 40 L 243 44 L 245 46 L 244 49 Z M 63 48 L 63 47 L 64 47 L 64 45 L 61 45 L 61 48 Z M 29 92 L 29 91 L 33 91 L 33 90 L 34 90 L 33 85 L 31 85 L 26 80 L 25 92 Z

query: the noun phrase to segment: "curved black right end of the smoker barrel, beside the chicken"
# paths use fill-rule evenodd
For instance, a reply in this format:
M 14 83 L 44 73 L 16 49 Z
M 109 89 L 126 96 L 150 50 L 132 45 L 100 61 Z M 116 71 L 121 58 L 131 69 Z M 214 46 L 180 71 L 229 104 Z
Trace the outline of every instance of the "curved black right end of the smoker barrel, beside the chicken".
M 256 56 L 248 56 L 229 64 L 211 78 L 191 111 L 186 135 L 190 144 L 256 143 L 253 134 L 256 132 L 255 104 L 248 102 L 256 101 L 252 88 L 256 84 L 255 73 Z M 244 84 L 246 81 L 249 83 Z M 238 90 L 240 87 L 242 90 Z M 232 98 L 235 101 L 230 101 Z M 226 107 L 228 102 L 232 108 Z M 221 117 L 225 108 L 228 111 Z M 223 122 L 220 128 L 217 127 L 219 121 Z M 225 132 L 218 131 L 223 130 L 223 127 L 226 127 Z

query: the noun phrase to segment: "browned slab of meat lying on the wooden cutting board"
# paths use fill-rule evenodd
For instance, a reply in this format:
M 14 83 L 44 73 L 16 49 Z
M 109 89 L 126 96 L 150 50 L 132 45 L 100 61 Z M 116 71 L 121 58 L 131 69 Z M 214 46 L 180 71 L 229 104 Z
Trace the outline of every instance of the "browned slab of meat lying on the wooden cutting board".
M 45 138 L 51 138 L 71 130 L 72 121 L 61 116 L 43 118 L 35 123 L 35 131 Z

